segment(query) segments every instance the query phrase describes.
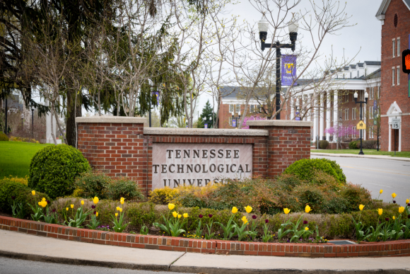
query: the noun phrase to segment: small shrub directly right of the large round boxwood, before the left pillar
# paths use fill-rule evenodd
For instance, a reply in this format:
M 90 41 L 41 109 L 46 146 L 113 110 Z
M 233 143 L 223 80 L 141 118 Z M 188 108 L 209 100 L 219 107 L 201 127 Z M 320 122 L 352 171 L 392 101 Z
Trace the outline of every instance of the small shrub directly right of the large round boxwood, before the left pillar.
M 73 195 L 83 198 L 97 196 L 100 199 L 106 199 L 106 187 L 111 181 L 111 177 L 104 172 L 88 170 L 76 178 L 74 182 L 76 190 L 74 190 Z

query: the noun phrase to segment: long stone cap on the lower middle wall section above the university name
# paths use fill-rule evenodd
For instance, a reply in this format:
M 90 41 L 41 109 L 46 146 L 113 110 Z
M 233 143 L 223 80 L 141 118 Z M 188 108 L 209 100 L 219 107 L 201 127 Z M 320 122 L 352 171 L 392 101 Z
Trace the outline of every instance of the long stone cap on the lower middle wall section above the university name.
M 267 130 L 231 130 L 220 128 L 144 127 L 144 135 L 269 136 Z

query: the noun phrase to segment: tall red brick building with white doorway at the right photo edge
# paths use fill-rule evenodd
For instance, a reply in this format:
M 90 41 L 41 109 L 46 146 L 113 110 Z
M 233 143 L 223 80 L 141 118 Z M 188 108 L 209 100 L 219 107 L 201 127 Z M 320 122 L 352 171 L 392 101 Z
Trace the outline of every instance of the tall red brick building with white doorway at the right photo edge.
M 402 51 L 410 47 L 410 0 L 383 0 L 376 18 L 382 23 L 382 150 L 396 144 L 397 151 L 409 152 L 409 75 L 402 71 Z M 399 130 L 392 129 L 392 119 L 399 119 Z

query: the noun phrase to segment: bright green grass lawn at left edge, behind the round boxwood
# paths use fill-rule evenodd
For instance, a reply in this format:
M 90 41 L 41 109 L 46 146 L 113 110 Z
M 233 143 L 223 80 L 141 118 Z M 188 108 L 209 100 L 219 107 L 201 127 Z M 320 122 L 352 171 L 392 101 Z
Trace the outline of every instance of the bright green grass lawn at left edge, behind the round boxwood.
M 0 142 L 0 178 L 10 175 L 24 178 L 28 175 L 30 160 L 35 152 L 49 145 L 26 142 Z

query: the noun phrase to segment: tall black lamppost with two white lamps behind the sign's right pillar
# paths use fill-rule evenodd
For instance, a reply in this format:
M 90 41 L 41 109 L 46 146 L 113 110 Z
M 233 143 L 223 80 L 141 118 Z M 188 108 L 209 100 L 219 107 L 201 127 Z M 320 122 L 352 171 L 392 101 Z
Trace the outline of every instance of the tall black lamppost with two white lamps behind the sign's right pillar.
M 262 51 L 268 48 L 274 48 L 276 50 L 276 111 L 281 109 L 281 48 L 288 48 L 295 51 L 295 42 L 298 38 L 299 24 L 296 21 L 289 22 L 289 37 L 291 38 L 291 44 L 281 44 L 276 41 L 274 44 L 267 44 L 266 38 L 268 35 L 269 22 L 265 16 L 262 16 L 261 21 L 258 22 L 259 39 L 261 40 Z M 281 119 L 281 113 L 276 115 L 276 120 Z

